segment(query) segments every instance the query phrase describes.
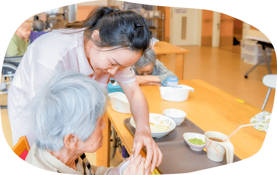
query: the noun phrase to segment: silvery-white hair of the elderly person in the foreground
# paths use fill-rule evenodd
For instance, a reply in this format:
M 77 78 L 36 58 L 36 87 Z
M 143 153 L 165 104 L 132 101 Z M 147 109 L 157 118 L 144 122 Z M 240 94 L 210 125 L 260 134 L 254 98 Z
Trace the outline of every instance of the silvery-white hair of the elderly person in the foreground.
M 67 134 L 85 142 L 109 104 L 106 88 L 69 70 L 58 71 L 24 108 L 32 117 L 37 147 L 59 151 Z

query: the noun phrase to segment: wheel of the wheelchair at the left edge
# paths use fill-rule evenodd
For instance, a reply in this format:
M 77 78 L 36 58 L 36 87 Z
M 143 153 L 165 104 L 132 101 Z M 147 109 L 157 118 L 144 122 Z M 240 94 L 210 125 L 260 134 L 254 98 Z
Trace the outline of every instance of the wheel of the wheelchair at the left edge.
M 7 108 L 8 91 L 16 69 L 17 66 L 14 64 L 3 63 L 0 83 L 0 108 Z

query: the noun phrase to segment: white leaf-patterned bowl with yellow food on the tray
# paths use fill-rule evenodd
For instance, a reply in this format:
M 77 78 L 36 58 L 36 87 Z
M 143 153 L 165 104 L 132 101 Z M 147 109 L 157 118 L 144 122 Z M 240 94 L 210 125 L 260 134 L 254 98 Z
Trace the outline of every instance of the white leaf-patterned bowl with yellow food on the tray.
M 130 124 L 136 128 L 134 118 L 130 119 Z M 165 115 L 149 113 L 149 125 L 153 138 L 161 138 L 169 134 L 176 127 L 176 122 Z

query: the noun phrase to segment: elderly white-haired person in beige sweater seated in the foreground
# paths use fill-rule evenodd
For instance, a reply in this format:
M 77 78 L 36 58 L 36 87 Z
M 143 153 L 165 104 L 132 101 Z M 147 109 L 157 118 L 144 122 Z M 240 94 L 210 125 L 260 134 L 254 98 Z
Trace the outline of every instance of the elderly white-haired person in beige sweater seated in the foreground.
M 72 70 L 58 71 L 24 107 L 36 135 L 25 161 L 58 173 L 104 175 L 119 174 L 121 165 L 131 160 L 125 174 L 140 173 L 141 156 L 135 160 L 132 155 L 116 168 L 90 165 L 85 157 L 102 146 L 108 104 L 108 92 L 97 81 Z

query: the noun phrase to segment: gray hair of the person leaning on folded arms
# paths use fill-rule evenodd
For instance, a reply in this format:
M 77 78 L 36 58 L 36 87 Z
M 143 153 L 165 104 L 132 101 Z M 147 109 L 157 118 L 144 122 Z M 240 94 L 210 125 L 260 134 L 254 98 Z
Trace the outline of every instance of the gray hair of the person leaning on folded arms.
M 146 55 L 148 59 L 145 56 L 141 56 L 135 64 L 133 64 L 133 69 L 143 69 L 147 65 L 152 65 L 153 67 L 156 64 L 157 56 L 154 52 L 154 50 L 151 48 L 148 51 L 146 51 Z

